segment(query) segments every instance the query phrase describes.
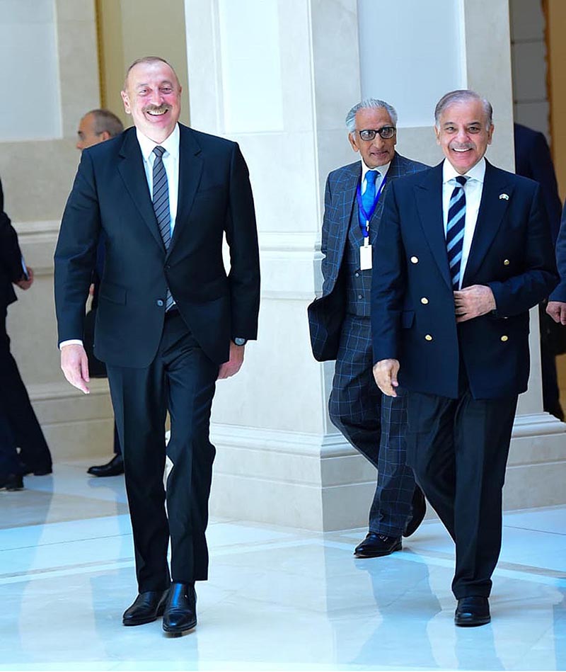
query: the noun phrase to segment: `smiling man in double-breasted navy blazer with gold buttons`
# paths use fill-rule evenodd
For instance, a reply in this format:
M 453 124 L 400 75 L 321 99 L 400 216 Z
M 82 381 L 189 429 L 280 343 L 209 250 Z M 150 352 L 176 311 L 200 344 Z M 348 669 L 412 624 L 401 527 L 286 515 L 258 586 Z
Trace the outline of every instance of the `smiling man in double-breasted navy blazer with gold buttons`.
M 538 184 L 484 159 L 492 107 L 473 91 L 435 110 L 438 166 L 395 181 L 371 297 L 374 375 L 408 389 L 408 462 L 456 542 L 456 625 L 490 621 L 502 487 L 529 380 L 529 309 L 557 281 Z

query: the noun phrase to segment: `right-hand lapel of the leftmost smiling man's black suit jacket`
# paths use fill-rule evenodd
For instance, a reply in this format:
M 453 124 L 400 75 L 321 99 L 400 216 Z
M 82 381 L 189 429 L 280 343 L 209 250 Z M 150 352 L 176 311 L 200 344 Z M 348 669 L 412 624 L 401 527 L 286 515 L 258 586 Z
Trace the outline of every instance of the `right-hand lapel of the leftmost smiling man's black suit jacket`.
M 173 238 L 171 238 L 168 255 L 173 251 L 190 215 L 204 166 L 204 161 L 199 156 L 201 149 L 200 144 L 195 139 L 195 134 L 190 128 L 182 124 L 179 124 L 179 129 L 179 197 L 175 228 L 173 229 Z

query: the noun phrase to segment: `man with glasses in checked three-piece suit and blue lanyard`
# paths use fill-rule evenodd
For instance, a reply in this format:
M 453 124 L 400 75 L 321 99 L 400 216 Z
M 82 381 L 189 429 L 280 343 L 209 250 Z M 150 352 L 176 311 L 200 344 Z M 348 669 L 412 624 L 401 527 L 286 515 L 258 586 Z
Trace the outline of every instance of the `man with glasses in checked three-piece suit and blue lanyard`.
M 405 464 L 405 397 L 382 397 L 371 375 L 371 246 L 380 225 L 383 195 L 400 176 L 427 167 L 395 152 L 396 124 L 395 109 L 374 98 L 347 114 L 348 139 L 361 161 L 328 176 L 321 244 L 323 293 L 308 307 L 315 358 L 336 360 L 330 420 L 377 468 L 369 532 L 354 549 L 357 557 L 382 557 L 400 550 L 401 538 L 415 532 L 426 507 Z

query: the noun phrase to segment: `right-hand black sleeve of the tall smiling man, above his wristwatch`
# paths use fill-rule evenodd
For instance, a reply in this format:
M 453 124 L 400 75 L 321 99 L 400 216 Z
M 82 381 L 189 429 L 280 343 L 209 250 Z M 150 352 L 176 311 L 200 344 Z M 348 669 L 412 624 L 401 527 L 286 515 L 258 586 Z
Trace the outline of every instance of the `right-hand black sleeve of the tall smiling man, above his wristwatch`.
M 230 248 L 231 338 L 253 340 L 258 337 L 260 255 L 248 166 L 237 144 L 230 166 L 226 242 Z

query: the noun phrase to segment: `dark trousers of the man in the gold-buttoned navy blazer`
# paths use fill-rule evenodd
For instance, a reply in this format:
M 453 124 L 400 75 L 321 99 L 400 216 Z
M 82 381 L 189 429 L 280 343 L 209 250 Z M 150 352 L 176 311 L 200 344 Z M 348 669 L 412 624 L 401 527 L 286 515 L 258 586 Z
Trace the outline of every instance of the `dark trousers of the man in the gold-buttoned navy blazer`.
M 490 595 L 501 550 L 502 488 L 517 397 L 410 392 L 407 460 L 456 542 L 457 599 Z

